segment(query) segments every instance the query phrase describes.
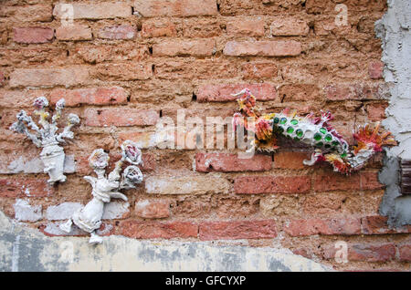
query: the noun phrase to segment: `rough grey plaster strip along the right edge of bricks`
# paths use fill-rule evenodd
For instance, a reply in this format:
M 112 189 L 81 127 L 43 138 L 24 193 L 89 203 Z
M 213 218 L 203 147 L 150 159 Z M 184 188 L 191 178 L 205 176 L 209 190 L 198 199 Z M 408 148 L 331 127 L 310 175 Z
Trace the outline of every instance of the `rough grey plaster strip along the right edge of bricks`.
M 385 81 L 393 84 L 387 118 L 383 124 L 395 134 L 399 146 L 386 151 L 385 170 L 380 180 L 386 184 L 382 214 L 394 225 L 411 223 L 411 196 L 401 195 L 398 187 L 398 159 L 411 159 L 411 4 L 388 1 L 388 11 L 376 23 L 382 40 Z

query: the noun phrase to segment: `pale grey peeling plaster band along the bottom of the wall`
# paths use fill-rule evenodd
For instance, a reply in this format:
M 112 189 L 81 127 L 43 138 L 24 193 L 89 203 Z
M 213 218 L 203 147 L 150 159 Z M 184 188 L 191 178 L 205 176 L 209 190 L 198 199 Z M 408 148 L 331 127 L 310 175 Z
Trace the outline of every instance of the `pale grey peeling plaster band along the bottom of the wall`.
M 206 242 L 47 237 L 0 212 L 0 271 L 332 271 L 290 250 Z

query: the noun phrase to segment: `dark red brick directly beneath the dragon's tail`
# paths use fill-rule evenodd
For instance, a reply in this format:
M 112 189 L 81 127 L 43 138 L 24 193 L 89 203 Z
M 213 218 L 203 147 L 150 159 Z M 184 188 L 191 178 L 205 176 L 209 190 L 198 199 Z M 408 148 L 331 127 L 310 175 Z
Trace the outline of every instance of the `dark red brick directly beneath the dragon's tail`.
M 334 172 L 314 177 L 314 191 L 333 192 L 350 190 L 377 190 L 384 188 L 377 172 L 356 172 L 346 176 Z

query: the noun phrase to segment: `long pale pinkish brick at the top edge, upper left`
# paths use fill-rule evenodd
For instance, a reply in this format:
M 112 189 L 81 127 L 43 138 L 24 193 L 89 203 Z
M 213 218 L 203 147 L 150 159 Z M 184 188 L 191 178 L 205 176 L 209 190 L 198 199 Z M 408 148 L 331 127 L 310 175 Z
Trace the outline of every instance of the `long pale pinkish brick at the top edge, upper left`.
M 106 19 L 127 18 L 132 16 L 132 6 L 121 2 L 103 2 L 99 4 L 73 3 L 73 19 Z M 66 17 L 67 7 L 57 4 L 53 16 L 58 19 Z

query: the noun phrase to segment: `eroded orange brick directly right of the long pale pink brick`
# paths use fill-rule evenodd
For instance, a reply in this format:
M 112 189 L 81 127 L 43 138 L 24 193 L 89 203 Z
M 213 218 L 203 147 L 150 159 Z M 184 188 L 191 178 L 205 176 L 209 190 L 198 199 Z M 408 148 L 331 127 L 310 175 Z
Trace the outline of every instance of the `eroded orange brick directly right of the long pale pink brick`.
M 94 75 L 101 80 L 135 80 L 148 79 L 153 76 L 150 64 L 100 64 L 96 66 Z

